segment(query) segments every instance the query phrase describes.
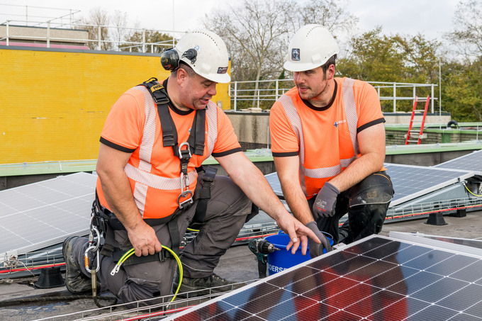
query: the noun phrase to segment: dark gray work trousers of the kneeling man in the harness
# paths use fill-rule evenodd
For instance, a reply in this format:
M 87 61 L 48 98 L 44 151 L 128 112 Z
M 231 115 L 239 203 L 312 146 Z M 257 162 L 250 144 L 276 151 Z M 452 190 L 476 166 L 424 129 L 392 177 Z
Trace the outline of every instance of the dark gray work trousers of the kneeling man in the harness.
M 203 173 L 199 173 L 196 192 L 201 190 L 202 176 Z M 176 218 L 181 239 L 196 212 L 197 204 L 198 201 L 194 201 L 191 208 Z M 211 198 L 208 201 L 206 217 L 200 225 L 198 235 L 184 247 L 181 254 L 184 277 L 203 278 L 213 274 L 220 257 L 235 241 L 245 224 L 247 215 L 251 212 L 252 203 L 245 193 L 229 177 L 216 175 L 215 182 L 211 187 Z M 167 223 L 153 228 L 159 242 L 171 248 L 172 243 Z M 114 233 L 115 240 L 121 249 L 127 251 L 132 248 L 127 231 L 116 230 Z M 83 264 L 87 242 L 86 238 L 75 242 L 73 256 L 77 263 L 80 263 L 79 266 L 83 273 L 90 277 Z M 92 255 L 90 261 L 91 266 L 95 268 L 96 259 Z M 100 261 L 101 268 L 97 272 L 97 278 L 101 282 L 101 291 L 113 293 L 124 303 L 171 293 L 172 280 L 177 268 L 175 259 L 122 266 L 114 276 L 111 276 L 111 271 L 116 265 L 113 258 L 101 255 Z M 147 301 L 145 305 L 153 303 L 154 301 Z

